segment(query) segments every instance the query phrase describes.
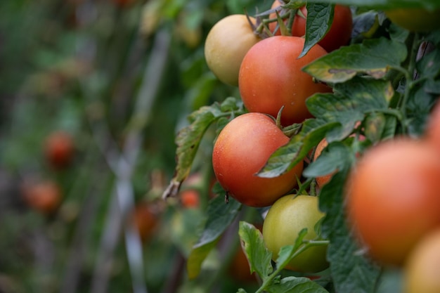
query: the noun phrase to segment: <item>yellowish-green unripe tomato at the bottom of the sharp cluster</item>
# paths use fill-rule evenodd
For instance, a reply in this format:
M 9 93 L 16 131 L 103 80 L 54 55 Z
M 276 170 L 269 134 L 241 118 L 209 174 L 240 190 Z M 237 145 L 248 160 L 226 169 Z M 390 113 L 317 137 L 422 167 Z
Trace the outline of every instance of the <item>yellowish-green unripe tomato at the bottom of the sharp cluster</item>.
M 263 240 L 275 260 L 281 247 L 294 245 L 298 233 L 307 228 L 304 240 L 316 240 L 315 225 L 324 216 L 318 208 L 318 197 L 285 195 L 269 209 L 263 223 Z M 327 245 L 309 247 L 286 267 L 303 273 L 316 273 L 328 268 Z

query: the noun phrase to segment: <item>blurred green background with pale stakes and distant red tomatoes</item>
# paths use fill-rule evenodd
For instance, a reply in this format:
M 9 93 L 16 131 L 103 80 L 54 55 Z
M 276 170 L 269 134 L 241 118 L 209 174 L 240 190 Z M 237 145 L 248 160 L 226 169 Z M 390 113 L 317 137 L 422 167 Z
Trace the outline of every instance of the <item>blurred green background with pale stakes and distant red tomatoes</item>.
M 181 195 L 162 193 L 188 114 L 239 97 L 207 68 L 207 32 L 271 2 L 0 1 L 1 293 L 257 286 L 234 264 L 236 230 L 186 276 L 213 196 L 214 131 Z

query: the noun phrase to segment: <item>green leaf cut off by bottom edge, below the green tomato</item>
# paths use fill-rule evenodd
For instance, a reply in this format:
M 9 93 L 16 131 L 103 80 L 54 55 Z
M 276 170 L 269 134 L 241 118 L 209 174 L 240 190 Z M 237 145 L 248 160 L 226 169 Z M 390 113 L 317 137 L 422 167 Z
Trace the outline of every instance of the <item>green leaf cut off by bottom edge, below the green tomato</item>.
M 328 293 L 326 289 L 309 278 L 286 277 L 266 288 L 269 293 Z

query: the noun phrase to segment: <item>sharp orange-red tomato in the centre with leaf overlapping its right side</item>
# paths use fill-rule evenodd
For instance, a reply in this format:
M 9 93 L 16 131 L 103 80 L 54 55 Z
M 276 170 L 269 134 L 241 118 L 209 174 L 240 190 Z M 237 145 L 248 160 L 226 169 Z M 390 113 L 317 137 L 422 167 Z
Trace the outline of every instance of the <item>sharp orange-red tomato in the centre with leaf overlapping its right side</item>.
M 273 178 L 256 174 L 271 154 L 289 142 L 271 117 L 246 113 L 231 120 L 216 138 L 212 152 L 214 174 L 229 195 L 251 207 L 266 207 L 297 185 L 303 162 Z

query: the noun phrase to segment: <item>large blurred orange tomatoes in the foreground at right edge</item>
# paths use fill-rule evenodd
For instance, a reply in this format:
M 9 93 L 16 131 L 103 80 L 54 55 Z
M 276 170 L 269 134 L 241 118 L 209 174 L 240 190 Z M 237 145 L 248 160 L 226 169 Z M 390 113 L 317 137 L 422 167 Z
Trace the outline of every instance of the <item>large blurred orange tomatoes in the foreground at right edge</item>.
M 439 179 L 440 103 L 425 136 L 378 143 L 347 181 L 347 214 L 359 242 L 380 263 L 406 268 L 406 292 L 440 289 L 432 275 L 440 263 Z

